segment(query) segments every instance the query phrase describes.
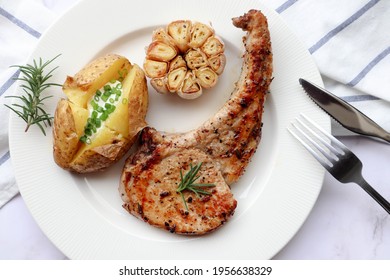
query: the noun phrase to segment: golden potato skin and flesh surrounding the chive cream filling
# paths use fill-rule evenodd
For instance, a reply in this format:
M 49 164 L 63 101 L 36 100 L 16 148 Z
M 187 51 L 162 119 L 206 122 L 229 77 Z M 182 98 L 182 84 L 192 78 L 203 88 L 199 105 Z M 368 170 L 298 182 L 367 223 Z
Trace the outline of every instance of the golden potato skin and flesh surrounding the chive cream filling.
M 61 99 L 57 104 L 53 125 L 53 155 L 55 162 L 66 170 L 89 173 L 108 168 L 127 153 L 137 139 L 138 132 L 147 125 L 145 117 L 148 109 L 148 89 L 143 70 L 138 65 L 131 65 L 122 56 L 112 54 L 107 56 L 106 59 L 98 58 L 91 62 L 74 78 L 68 77 L 64 83 L 65 94 L 67 90 L 71 94 L 68 95 L 69 100 Z M 100 65 L 102 63 L 105 65 Z M 112 65 L 115 67 L 114 70 L 110 68 Z M 129 125 L 127 135 L 122 135 L 115 130 L 115 127 L 102 126 L 92 143 L 80 142 L 82 133 L 80 122 L 83 122 L 82 127 L 84 127 L 88 116 L 83 115 L 86 111 L 86 107 L 83 107 L 87 104 L 86 97 L 77 94 L 86 94 L 91 88 L 96 91 L 110 80 L 118 79 L 117 70 L 125 68 L 127 75 L 132 73 L 131 76 L 126 75 L 125 80 L 132 79 L 130 80 L 132 83 L 131 87 L 122 93 L 123 98 L 128 101 L 127 108 L 124 107 L 127 112 L 126 114 L 118 112 L 118 114 L 127 116 L 127 119 L 120 119 Z M 107 75 L 107 71 L 110 75 Z M 83 73 L 85 77 L 82 76 Z M 97 86 L 95 82 L 99 85 Z

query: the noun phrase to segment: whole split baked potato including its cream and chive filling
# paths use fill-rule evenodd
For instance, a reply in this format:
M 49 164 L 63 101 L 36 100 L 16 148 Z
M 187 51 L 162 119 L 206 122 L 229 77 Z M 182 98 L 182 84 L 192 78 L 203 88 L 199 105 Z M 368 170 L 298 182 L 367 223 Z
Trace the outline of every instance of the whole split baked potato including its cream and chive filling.
M 63 84 L 54 114 L 53 154 L 62 168 L 101 171 L 131 148 L 146 126 L 148 89 L 143 70 L 123 56 L 97 58 Z

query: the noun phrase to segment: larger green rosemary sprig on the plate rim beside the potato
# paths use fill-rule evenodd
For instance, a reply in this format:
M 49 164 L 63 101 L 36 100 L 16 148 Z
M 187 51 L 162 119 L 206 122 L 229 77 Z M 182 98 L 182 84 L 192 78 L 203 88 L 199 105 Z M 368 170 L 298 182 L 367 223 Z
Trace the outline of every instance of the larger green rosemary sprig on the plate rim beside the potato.
M 39 58 L 38 63 L 34 59 L 33 64 L 11 66 L 19 68 L 21 77 L 16 78 L 16 80 L 23 82 L 20 87 L 23 89 L 24 94 L 20 96 L 6 96 L 17 98 L 22 102 L 21 104 L 13 103 L 11 106 L 5 104 L 5 106 L 11 109 L 15 114 L 17 114 L 26 122 L 27 125 L 25 132 L 28 131 L 30 126 L 36 124 L 39 126 L 42 133 L 46 135 L 43 125 L 45 127 L 51 126 L 53 117 L 50 116 L 50 114 L 48 114 L 42 106 L 43 102 L 52 96 L 42 97 L 41 93 L 51 86 L 61 86 L 60 84 L 48 82 L 48 80 L 53 76 L 53 71 L 58 67 L 55 67 L 47 73 L 44 73 L 46 70 L 45 68 L 58 56 L 60 55 L 57 55 L 45 63 L 43 63 L 42 58 Z

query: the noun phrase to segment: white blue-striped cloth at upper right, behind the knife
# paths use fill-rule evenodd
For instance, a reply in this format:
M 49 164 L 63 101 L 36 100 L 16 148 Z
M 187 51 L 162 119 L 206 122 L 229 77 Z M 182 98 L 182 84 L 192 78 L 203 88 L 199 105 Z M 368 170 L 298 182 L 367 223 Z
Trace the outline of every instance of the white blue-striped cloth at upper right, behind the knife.
M 302 39 L 325 87 L 390 131 L 390 1 L 263 2 Z M 351 135 L 335 122 L 332 133 Z

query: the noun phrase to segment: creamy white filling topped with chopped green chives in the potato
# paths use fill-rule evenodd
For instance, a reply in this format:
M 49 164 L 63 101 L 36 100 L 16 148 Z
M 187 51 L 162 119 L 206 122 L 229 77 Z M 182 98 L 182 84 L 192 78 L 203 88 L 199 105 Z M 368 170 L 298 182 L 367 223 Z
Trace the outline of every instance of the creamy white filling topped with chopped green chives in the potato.
M 94 135 L 115 111 L 118 102 L 127 102 L 126 98 L 121 99 L 122 93 L 122 83 L 119 80 L 112 80 L 96 91 L 88 102 L 89 118 L 84 128 L 84 135 L 80 137 L 81 142 L 90 144 Z

